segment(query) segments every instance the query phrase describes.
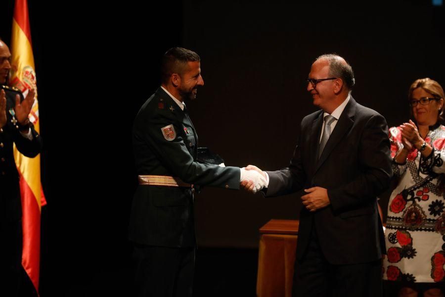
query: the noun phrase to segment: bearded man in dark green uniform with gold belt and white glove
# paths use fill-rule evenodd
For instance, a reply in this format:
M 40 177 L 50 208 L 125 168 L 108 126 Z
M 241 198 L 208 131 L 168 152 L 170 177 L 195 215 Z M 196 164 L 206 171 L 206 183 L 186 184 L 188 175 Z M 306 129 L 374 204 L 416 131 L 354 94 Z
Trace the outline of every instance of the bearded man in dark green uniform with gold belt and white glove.
M 199 56 L 169 49 L 161 72 L 161 87 L 142 105 L 133 127 L 139 176 L 129 228 L 135 291 L 144 297 L 191 296 L 196 247 L 192 184 L 239 189 L 247 179 L 258 190 L 266 180 L 246 175 L 254 170 L 196 161 L 198 137 L 183 101 L 194 99 L 204 85 Z

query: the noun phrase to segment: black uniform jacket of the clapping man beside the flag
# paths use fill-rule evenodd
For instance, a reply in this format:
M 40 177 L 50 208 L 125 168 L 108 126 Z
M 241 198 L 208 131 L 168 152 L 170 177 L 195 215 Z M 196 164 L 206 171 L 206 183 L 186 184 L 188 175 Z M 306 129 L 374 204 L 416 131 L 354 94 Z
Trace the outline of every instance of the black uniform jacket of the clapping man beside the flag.
M 42 149 L 42 138 L 30 123 L 32 140 L 20 134 L 13 123 L 11 110 L 15 106 L 15 96 L 22 93 L 11 87 L 0 85 L 6 93 L 6 125 L 0 129 L 0 218 L 1 220 L 18 220 L 22 216 L 20 200 L 19 173 L 14 161 L 13 144 L 27 157 L 35 157 Z

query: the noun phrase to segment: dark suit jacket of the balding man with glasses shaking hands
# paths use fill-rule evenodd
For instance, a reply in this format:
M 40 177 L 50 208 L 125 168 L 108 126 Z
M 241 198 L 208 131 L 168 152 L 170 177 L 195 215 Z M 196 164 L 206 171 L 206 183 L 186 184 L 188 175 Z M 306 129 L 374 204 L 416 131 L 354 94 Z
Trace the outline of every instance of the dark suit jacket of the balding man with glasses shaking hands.
M 351 97 L 317 160 L 323 111 L 306 116 L 288 168 L 267 172 L 266 196 L 313 186 L 326 188 L 330 205 L 300 213 L 297 258 L 315 228 L 322 252 L 331 264 L 370 262 L 381 258 L 383 230 L 376 196 L 392 176 L 385 118 Z

